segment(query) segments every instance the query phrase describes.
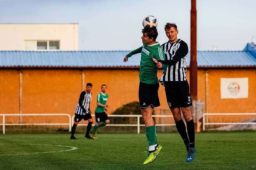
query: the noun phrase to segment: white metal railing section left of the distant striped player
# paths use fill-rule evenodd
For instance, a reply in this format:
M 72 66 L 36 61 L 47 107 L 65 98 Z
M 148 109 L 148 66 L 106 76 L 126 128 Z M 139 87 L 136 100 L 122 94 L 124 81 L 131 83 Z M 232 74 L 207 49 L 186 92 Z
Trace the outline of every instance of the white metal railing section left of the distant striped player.
M 71 131 L 71 116 L 67 113 L 38 113 L 38 114 L 0 114 L 3 116 L 3 134 L 5 134 L 5 125 L 68 125 L 69 131 Z M 68 116 L 69 123 L 28 123 L 28 124 L 6 124 L 5 117 L 6 116 Z

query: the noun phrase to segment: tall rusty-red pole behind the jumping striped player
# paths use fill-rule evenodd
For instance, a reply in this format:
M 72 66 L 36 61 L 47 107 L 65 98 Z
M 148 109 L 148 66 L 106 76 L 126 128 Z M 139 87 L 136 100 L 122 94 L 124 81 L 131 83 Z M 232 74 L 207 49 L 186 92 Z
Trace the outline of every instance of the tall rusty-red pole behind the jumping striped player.
M 190 11 L 190 95 L 197 100 L 197 61 L 196 61 L 196 0 L 191 0 Z

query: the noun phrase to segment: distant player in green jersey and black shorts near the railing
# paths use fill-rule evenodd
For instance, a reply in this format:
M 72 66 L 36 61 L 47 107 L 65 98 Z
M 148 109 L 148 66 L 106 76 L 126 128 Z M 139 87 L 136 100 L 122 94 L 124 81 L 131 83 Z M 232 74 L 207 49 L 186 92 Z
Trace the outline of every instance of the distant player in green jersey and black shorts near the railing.
M 97 107 L 95 109 L 95 119 L 96 124 L 93 128 L 92 137 L 96 138 L 95 134 L 97 133 L 98 128 L 105 126 L 106 124 L 109 124 L 109 118 L 105 111 L 107 111 L 108 105 L 108 94 L 107 91 L 107 85 L 102 84 L 101 85 L 101 92 L 97 96 Z

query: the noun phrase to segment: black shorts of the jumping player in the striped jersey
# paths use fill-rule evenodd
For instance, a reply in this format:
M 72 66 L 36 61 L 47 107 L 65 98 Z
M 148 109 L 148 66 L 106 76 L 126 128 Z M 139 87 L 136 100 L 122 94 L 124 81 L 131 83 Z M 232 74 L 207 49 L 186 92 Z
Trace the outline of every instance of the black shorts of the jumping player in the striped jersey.
M 192 106 L 188 81 L 164 81 L 164 89 L 170 109 Z

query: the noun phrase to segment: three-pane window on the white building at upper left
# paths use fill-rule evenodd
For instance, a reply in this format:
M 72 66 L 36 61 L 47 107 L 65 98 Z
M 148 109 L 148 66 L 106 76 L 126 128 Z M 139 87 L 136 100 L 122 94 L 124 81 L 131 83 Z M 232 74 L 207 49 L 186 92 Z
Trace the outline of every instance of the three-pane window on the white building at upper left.
M 60 50 L 60 40 L 24 40 L 25 50 Z

